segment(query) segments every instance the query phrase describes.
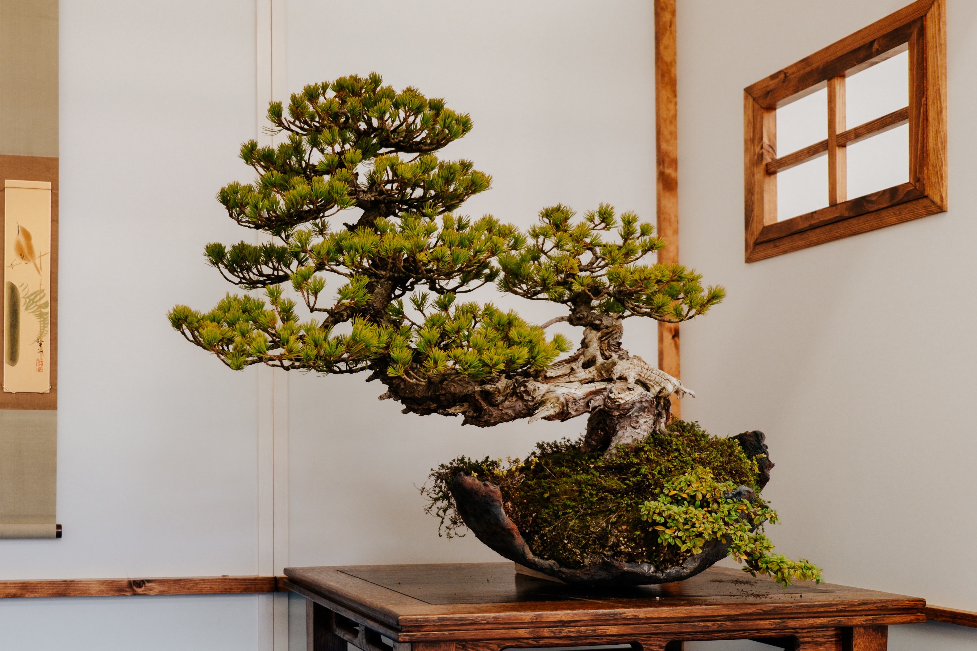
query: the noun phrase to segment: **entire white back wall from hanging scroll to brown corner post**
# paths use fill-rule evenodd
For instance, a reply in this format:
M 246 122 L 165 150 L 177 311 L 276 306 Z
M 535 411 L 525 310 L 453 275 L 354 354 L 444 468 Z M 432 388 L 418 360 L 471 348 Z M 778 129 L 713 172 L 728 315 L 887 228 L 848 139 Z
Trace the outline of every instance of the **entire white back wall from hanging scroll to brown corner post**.
M 474 159 L 495 189 L 467 212 L 528 225 L 546 205 L 610 201 L 654 220 L 650 4 L 285 9 L 288 90 L 376 69 L 472 113 L 475 130 L 446 155 Z M 266 558 L 257 403 L 267 391 L 254 369 L 231 373 L 165 319 L 175 303 L 207 308 L 233 289 L 203 263 L 206 242 L 253 237 L 213 196 L 250 179 L 238 144 L 259 135 L 263 84 L 280 88 L 266 19 L 253 0 L 62 3 L 64 539 L 4 541 L 0 578 L 254 574 Z M 507 305 L 533 320 L 557 313 L 527 303 Z M 654 342 L 654 324 L 626 341 L 649 359 Z M 360 377 L 293 376 L 289 387 L 290 565 L 497 558 L 471 537 L 439 539 L 415 484 L 457 455 L 523 455 L 583 427 L 460 430 L 402 416 Z M 0 628 L 14 648 L 269 649 L 262 599 L 0 600 Z

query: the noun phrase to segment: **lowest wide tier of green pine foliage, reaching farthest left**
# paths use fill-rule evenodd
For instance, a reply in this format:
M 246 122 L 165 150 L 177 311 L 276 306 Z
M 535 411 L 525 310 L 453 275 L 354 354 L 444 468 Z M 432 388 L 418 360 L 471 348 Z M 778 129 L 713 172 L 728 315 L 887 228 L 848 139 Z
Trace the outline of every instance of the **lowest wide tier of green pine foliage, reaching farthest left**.
M 428 305 L 428 294 L 411 297 L 421 305 L 423 322 L 400 327 L 354 317 L 350 334 L 332 335 L 316 320 L 299 323 L 295 302 L 270 287 L 271 309 L 248 296 L 228 295 L 206 314 L 177 305 L 170 312 L 174 328 L 189 334 L 197 346 L 219 351 L 234 370 L 256 362 L 311 369 L 319 373 L 356 373 L 371 362 L 383 362 L 393 377 L 420 380 L 454 371 L 472 380 L 492 375 L 539 371 L 570 350 L 562 335 L 547 340 L 539 326 L 494 305 L 453 305 L 453 294 Z M 363 300 L 362 283 L 340 290 L 343 300 Z M 391 305 L 398 314 L 403 302 Z M 405 317 L 404 317 L 405 318 Z

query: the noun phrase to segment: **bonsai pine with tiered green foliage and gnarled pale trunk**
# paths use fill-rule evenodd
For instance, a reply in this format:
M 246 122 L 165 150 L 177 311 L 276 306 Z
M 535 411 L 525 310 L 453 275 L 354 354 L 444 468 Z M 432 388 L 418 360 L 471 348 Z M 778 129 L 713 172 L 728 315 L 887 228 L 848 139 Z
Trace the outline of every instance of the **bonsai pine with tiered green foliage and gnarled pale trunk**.
M 306 86 L 287 112 L 272 102 L 268 119 L 285 139 L 245 142 L 240 157 L 257 179 L 229 183 L 218 200 L 237 224 L 270 238 L 205 248 L 226 279 L 264 289 L 267 302 L 241 294 L 208 312 L 177 305 L 170 321 L 192 344 L 234 370 L 366 372 L 386 387 L 380 399 L 404 413 L 460 416 L 464 425 L 587 414 L 573 448 L 581 460 L 611 463 L 669 435 L 669 396 L 691 391 L 621 347 L 623 323 L 685 321 L 724 291 L 679 264 L 653 264 L 664 242 L 652 224 L 604 204 L 582 218 L 563 205 L 544 208 L 528 232 L 456 214 L 491 184 L 470 161 L 438 157 L 471 131 L 471 118 L 416 89 L 397 92 L 376 73 Z M 329 222 L 341 213 L 348 222 Z M 326 277 L 340 283 L 334 298 Z M 488 283 L 554 304 L 554 318 L 533 325 L 460 299 Z M 583 328 L 562 360 L 570 342 L 545 333 L 558 321 Z M 755 462 L 737 454 L 755 475 Z M 447 483 L 439 495 L 450 510 Z

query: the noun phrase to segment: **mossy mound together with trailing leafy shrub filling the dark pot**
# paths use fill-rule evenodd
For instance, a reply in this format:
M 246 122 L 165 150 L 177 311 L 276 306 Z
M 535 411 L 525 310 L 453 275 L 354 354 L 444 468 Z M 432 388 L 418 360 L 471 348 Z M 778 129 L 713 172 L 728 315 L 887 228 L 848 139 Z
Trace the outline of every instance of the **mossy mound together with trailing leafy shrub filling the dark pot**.
M 607 459 L 564 439 L 538 443 L 525 460 L 443 464 L 421 492 L 448 538 L 464 535 L 449 490 L 458 472 L 497 485 L 533 553 L 564 567 L 607 558 L 670 567 L 718 538 L 732 541 L 731 553 L 754 576 L 783 585 L 820 579 L 807 561 L 769 553 L 762 527 L 776 522 L 776 513 L 759 496 L 752 503 L 722 497 L 740 485 L 756 491 L 758 469 L 738 441 L 711 436 L 698 423 L 672 420 L 668 435 L 653 434 Z

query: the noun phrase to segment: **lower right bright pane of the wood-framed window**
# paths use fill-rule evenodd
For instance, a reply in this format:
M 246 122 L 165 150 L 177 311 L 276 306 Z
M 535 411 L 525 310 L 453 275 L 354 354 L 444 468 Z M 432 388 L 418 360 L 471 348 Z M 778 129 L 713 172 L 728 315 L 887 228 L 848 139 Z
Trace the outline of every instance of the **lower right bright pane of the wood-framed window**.
M 848 145 L 848 196 L 860 197 L 910 180 L 910 126 Z

